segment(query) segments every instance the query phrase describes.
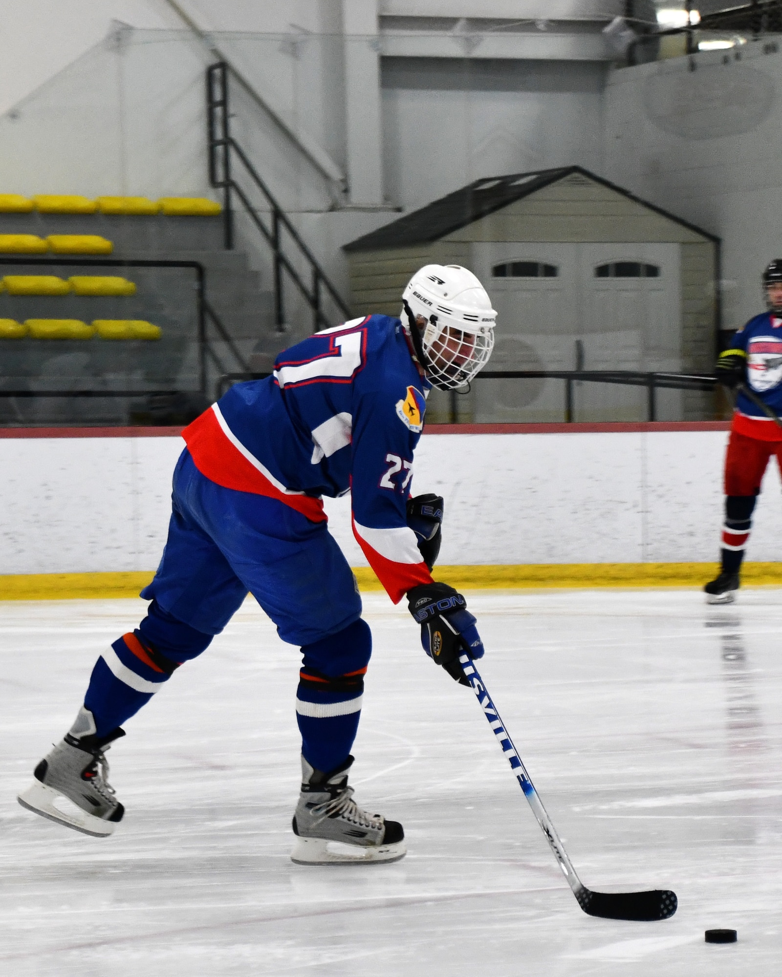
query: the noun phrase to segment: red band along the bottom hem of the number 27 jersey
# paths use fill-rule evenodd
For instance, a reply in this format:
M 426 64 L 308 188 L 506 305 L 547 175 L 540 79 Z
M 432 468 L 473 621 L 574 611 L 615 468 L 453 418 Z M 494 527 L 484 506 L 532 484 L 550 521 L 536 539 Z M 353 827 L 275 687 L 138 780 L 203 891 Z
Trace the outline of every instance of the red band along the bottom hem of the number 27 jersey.
M 326 522 L 323 501 L 311 495 L 287 495 L 273 485 L 237 446 L 231 444 L 211 407 L 185 428 L 182 437 L 193 456 L 195 467 L 210 482 L 223 488 L 276 498 L 313 523 Z

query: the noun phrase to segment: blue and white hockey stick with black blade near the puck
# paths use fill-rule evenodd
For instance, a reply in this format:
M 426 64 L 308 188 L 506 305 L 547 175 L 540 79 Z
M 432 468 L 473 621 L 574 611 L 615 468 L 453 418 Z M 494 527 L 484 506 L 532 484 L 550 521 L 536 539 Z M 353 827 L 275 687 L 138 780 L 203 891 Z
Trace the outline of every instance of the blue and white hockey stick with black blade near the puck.
M 567 852 L 562 847 L 559 835 L 546 814 L 543 801 L 530 780 L 524 764 L 521 762 L 516 747 L 500 719 L 497 706 L 492 701 L 483 679 L 475 667 L 475 662 L 462 655 L 459 659 L 464 675 L 472 686 L 478 701 L 483 707 L 484 715 L 494 730 L 502 752 L 507 757 L 510 769 L 516 775 L 516 780 L 524 791 L 524 796 L 543 828 L 543 834 L 548 839 L 554 858 L 559 868 L 565 873 L 565 878 L 578 899 L 579 906 L 588 915 L 600 916 L 603 919 L 631 919 L 639 922 L 649 922 L 655 919 L 668 919 L 676 912 L 678 901 L 675 892 L 670 889 L 650 889 L 647 892 L 592 892 L 587 889 L 573 868 Z

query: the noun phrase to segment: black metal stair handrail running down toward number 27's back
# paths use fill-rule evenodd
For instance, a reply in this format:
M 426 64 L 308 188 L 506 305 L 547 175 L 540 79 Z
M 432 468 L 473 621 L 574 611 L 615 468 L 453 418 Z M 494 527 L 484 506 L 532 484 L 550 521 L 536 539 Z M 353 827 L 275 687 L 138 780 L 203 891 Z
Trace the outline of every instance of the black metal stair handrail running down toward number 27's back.
M 324 292 L 330 297 L 339 313 L 350 319 L 351 312 L 335 286 L 331 283 L 326 272 L 300 234 L 291 224 L 272 191 L 266 186 L 247 154 L 233 138 L 230 131 L 229 111 L 229 65 L 225 62 L 211 64 L 206 69 L 206 116 L 207 138 L 209 144 L 209 183 L 212 187 L 223 191 L 223 220 L 224 243 L 228 250 L 233 249 L 235 243 L 234 200 L 239 199 L 247 217 L 260 232 L 263 239 L 272 249 L 274 262 L 274 294 L 275 294 L 275 322 L 280 332 L 284 330 L 284 279 L 283 273 L 293 282 L 301 296 L 309 305 L 313 314 L 315 331 L 337 324 L 326 317 L 323 311 Z M 255 207 L 253 207 L 247 193 L 242 189 L 234 176 L 234 163 L 240 164 L 241 170 L 249 178 L 251 184 L 263 195 L 269 208 L 270 223 L 267 223 Z M 282 232 L 288 235 L 295 245 L 298 254 L 307 265 L 311 284 L 307 285 L 292 261 L 287 257 L 282 246 Z

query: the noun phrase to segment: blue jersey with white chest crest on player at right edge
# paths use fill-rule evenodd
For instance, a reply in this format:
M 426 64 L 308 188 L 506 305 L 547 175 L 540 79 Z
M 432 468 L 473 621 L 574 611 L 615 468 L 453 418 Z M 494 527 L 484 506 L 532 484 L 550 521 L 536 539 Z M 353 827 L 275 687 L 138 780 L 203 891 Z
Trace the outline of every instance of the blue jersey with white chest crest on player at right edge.
M 753 391 L 777 414 L 782 413 L 782 319 L 770 312 L 750 319 L 735 334 L 730 349 L 747 357 L 747 382 Z M 768 427 L 769 436 L 773 440 L 778 438 L 780 432 L 774 422 L 741 392 L 736 409 L 739 414 L 734 424 L 736 430 L 747 429 L 747 434 L 762 437 L 760 427 Z M 743 424 L 743 418 L 750 418 L 751 422 Z

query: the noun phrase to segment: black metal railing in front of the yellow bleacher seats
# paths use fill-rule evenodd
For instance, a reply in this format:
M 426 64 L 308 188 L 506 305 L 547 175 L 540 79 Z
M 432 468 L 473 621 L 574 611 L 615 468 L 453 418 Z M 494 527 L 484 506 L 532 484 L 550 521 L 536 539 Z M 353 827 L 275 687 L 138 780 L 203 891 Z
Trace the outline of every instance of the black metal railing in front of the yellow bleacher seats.
M 225 363 L 212 349 L 208 332 L 207 323 L 211 323 L 218 336 L 226 343 L 235 360 L 242 369 L 248 369 L 249 364 L 241 356 L 236 344 L 229 335 L 225 325 L 209 304 L 206 298 L 206 273 L 203 265 L 198 261 L 166 261 L 166 260 L 146 260 L 146 259 L 121 259 L 121 258 L 36 258 L 31 255 L 24 255 L 18 258 L 0 257 L 0 267 L 2 266 L 33 266 L 33 267 L 57 267 L 57 268 L 191 268 L 195 272 L 195 316 L 196 332 L 195 342 L 197 345 L 197 373 L 198 388 L 197 392 L 204 397 L 208 394 L 207 378 L 207 359 L 211 360 L 218 373 L 225 373 Z M 8 390 L 0 389 L 0 398 L 34 398 L 34 397 L 64 397 L 64 398 L 89 398 L 89 397 L 159 397 L 172 396 L 182 393 L 175 390 Z

